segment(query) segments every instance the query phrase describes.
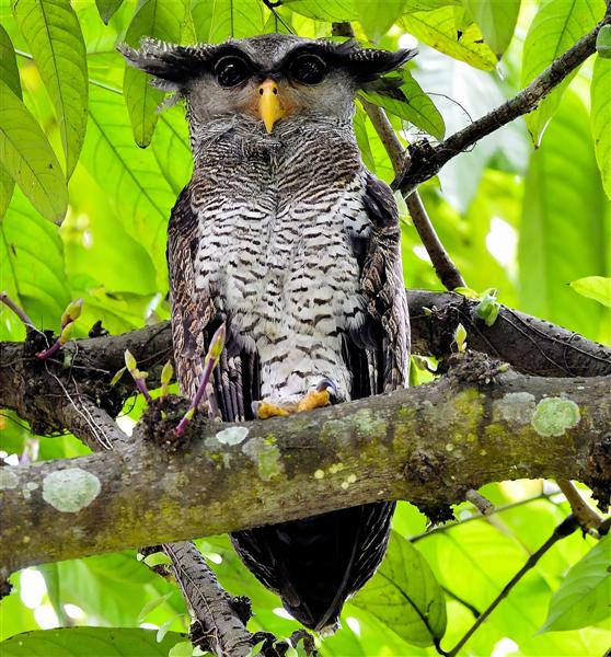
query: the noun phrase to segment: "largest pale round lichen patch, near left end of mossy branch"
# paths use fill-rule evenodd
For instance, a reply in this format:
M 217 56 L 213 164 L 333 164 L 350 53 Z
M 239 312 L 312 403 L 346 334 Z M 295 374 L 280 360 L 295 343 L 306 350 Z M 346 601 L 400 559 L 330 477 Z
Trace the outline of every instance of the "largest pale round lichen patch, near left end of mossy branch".
M 100 480 L 80 468 L 57 470 L 43 480 L 43 499 L 58 511 L 68 514 L 89 506 L 100 489 Z

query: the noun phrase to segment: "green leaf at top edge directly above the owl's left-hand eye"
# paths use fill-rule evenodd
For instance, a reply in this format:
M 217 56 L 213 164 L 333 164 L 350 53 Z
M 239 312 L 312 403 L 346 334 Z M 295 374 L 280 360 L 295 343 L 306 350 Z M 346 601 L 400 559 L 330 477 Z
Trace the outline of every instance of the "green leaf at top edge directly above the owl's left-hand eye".
M 219 44 L 230 37 L 244 38 L 261 34 L 265 26 L 265 12 L 260 0 L 211 0 L 212 18 L 208 41 Z

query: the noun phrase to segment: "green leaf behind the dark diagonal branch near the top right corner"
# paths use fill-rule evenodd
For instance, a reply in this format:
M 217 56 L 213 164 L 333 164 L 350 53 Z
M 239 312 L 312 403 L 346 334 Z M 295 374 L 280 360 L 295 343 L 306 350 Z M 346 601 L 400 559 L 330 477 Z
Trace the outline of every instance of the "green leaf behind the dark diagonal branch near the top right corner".
M 522 55 L 522 87 L 546 69 L 554 59 L 568 50 L 590 31 L 604 14 L 603 0 L 546 0 L 534 16 L 524 42 Z M 561 97 L 577 69 L 568 74 L 541 103 L 527 115 L 526 122 L 535 146 Z

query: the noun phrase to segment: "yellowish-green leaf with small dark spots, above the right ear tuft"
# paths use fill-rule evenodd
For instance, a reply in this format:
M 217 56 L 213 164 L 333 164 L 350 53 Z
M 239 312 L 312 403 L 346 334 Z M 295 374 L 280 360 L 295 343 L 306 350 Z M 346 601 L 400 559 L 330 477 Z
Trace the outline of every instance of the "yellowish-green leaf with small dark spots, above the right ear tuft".
M 480 27 L 471 23 L 465 30 L 459 30 L 454 9 L 442 7 L 435 11 L 406 14 L 401 23 L 410 34 L 440 53 L 479 69 L 494 69 L 496 55 L 483 41 Z

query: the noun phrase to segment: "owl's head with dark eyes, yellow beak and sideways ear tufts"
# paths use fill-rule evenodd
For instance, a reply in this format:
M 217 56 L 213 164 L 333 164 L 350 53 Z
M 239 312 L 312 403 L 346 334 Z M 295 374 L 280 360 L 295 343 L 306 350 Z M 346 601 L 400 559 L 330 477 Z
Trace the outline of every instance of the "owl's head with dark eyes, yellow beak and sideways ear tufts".
M 194 122 L 244 114 L 268 132 L 293 115 L 349 119 L 359 89 L 392 93 L 401 80 L 384 76 L 416 54 L 284 34 L 197 46 L 146 38 L 138 50 L 119 50 L 155 87 L 185 97 Z

